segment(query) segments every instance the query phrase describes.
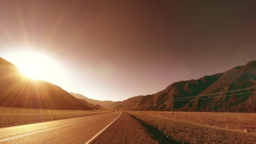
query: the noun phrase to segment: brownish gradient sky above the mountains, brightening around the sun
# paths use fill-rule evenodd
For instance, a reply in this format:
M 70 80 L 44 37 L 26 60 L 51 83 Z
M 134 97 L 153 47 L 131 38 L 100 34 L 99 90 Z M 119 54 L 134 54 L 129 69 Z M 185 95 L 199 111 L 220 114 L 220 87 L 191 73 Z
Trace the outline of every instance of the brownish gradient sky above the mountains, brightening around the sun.
M 43 80 L 120 101 L 256 60 L 255 14 L 235 0 L 1 0 L 0 56 L 37 53 Z

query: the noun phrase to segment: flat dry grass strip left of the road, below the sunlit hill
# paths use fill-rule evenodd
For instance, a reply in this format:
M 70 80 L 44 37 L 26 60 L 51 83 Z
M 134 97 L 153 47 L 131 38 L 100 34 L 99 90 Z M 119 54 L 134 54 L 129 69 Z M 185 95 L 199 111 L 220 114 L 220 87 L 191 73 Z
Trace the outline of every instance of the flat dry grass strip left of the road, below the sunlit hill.
M 84 111 L 0 107 L 0 128 L 40 123 L 52 120 L 61 120 L 73 117 L 83 117 L 106 112 L 112 112 L 112 110 L 100 109 Z

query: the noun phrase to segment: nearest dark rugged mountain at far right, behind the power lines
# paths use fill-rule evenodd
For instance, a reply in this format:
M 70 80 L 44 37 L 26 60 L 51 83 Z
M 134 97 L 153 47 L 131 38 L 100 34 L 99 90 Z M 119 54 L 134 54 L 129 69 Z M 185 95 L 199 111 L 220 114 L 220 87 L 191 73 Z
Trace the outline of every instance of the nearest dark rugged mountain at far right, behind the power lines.
M 224 72 L 224 75 L 216 83 L 211 85 L 211 87 L 206 88 L 200 93 L 200 95 L 253 86 L 256 86 L 256 61 L 251 61 L 245 66 L 234 67 L 233 69 Z M 246 93 L 252 91 L 256 91 L 256 89 L 237 91 L 228 94 Z M 181 110 L 205 112 L 256 112 L 255 104 L 256 93 L 250 93 L 214 99 L 195 99 L 186 104 Z

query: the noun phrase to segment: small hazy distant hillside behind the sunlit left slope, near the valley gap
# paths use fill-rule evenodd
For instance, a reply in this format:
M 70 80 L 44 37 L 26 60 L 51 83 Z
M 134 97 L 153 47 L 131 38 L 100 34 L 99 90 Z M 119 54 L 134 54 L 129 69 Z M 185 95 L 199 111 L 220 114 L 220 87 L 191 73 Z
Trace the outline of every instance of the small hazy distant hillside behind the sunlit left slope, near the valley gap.
M 99 100 L 95 100 L 95 99 L 89 99 L 86 96 L 83 96 L 83 95 L 78 94 L 78 93 L 72 93 L 71 92 L 70 94 L 72 96 L 75 96 L 77 99 L 84 99 L 85 101 L 87 101 L 90 104 L 93 104 L 93 105 L 98 104 L 99 106 L 104 107 L 104 108 L 109 108 L 110 105 L 115 103 L 114 101 L 99 101 Z

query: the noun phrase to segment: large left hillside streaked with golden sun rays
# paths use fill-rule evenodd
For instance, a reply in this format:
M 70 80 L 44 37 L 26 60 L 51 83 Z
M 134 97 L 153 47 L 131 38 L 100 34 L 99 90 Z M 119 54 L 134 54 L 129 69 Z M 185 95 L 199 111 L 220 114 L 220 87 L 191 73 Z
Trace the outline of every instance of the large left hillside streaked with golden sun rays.
M 22 76 L 16 66 L 3 58 L 0 58 L 0 81 L 0 107 L 92 109 L 57 85 Z

